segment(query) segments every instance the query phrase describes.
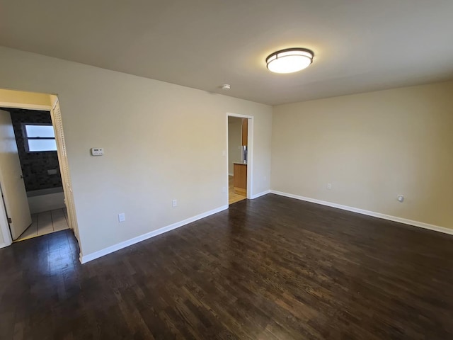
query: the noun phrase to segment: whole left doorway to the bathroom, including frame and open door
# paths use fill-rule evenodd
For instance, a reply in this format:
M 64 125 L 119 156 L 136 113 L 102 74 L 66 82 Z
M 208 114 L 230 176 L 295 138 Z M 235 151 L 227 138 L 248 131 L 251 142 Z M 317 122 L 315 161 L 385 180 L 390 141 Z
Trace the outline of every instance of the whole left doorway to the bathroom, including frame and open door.
M 79 241 L 57 96 L 0 89 L 0 247 L 72 229 Z

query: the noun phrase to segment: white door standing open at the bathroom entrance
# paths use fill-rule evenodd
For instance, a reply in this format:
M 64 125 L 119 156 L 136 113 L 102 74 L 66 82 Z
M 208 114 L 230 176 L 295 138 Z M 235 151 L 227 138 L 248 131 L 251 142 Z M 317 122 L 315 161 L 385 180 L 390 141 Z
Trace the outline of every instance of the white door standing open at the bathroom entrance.
M 0 185 L 6 215 L 11 219 L 9 224 L 11 234 L 13 239 L 17 239 L 31 225 L 31 215 L 11 115 L 2 110 L 0 110 Z

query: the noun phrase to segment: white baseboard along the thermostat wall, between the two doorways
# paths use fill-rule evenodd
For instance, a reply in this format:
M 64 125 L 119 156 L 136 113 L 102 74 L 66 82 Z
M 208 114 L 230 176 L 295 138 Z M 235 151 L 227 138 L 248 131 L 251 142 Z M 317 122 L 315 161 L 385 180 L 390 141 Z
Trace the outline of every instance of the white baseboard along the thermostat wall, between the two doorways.
M 216 208 L 214 210 L 203 212 L 200 215 L 189 217 L 183 221 L 173 223 L 173 225 L 167 225 L 166 227 L 162 227 L 162 228 L 154 230 L 152 232 L 147 232 L 146 234 L 142 234 L 142 235 L 134 237 L 132 239 L 128 239 L 125 242 L 120 242 L 120 243 L 114 244 L 113 246 L 108 246 L 107 248 L 101 249 L 99 251 L 95 251 L 94 253 L 84 255 L 84 256 L 81 255 L 79 260 L 81 263 L 86 263 L 88 261 L 98 259 L 101 256 L 113 253 L 114 251 L 123 249 L 126 246 L 132 246 L 132 244 L 136 244 L 138 242 L 144 241 L 145 239 L 150 239 L 151 237 L 155 237 L 157 235 L 164 234 L 164 232 L 169 232 L 170 230 L 173 230 L 173 229 L 176 229 L 179 227 L 183 227 L 183 225 L 188 225 L 189 223 L 195 222 L 197 220 L 200 220 L 204 217 L 208 217 L 210 215 L 214 215 L 217 212 L 221 212 L 226 209 L 228 209 L 228 205 L 223 205 L 222 207 Z

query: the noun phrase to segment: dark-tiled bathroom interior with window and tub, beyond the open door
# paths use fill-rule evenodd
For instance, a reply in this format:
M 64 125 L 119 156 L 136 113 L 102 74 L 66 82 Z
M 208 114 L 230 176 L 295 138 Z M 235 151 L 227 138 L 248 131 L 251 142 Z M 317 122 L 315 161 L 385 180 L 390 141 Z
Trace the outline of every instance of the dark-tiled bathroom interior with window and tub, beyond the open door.
M 7 117 L 3 117 L 6 115 L 5 111 L 10 115 L 17 146 L 16 149 L 11 149 L 11 152 L 17 154 L 20 163 L 31 216 L 31 223 L 25 230 L 23 228 L 29 220 L 9 225 L 13 242 L 69 229 L 50 111 L 22 108 L 0 110 L 3 124 L 9 122 Z M 17 160 L 10 158 L 8 162 Z M 23 216 L 28 215 L 25 206 L 22 212 Z

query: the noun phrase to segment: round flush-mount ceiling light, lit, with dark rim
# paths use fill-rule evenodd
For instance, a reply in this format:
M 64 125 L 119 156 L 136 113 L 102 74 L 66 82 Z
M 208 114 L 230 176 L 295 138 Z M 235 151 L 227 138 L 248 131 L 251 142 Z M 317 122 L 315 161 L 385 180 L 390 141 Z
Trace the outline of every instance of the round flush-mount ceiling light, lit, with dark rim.
M 269 55 L 266 64 L 271 72 L 292 73 L 309 67 L 313 57 L 314 52 L 306 48 L 287 48 Z

